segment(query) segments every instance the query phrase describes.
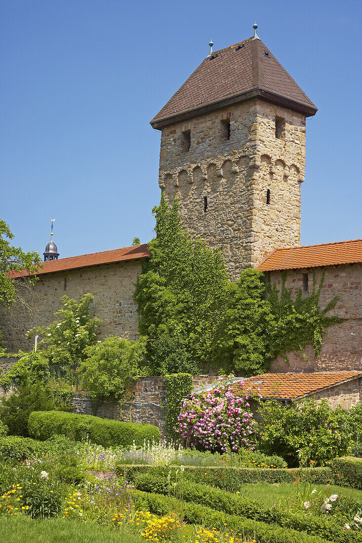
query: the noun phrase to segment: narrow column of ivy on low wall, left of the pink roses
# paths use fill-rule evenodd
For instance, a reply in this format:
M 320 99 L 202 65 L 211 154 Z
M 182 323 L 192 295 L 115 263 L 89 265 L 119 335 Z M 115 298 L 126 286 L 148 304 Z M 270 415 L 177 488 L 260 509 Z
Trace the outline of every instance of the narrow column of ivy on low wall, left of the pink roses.
M 191 394 L 192 375 L 177 373 L 165 375 L 166 388 L 166 431 L 169 438 L 176 438 L 175 427 L 180 414 L 184 396 Z

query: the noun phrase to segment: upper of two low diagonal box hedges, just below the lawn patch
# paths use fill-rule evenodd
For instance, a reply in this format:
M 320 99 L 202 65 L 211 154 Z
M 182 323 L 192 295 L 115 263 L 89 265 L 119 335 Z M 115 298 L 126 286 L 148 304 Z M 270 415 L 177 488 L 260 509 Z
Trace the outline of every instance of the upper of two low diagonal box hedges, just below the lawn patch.
M 138 490 L 148 493 L 168 494 L 167 477 L 160 477 L 142 473 L 136 481 Z M 175 487 L 171 486 L 172 491 Z M 206 484 L 195 484 L 191 481 L 178 481 L 177 491 L 186 502 L 194 502 L 211 507 L 229 515 L 242 515 L 247 519 L 277 524 L 278 526 L 319 535 L 335 543 L 348 541 L 361 541 L 362 533 L 347 532 L 335 522 L 332 517 L 319 517 L 304 512 L 283 511 L 277 507 L 270 507 L 252 498 L 238 496 L 225 490 L 212 488 Z

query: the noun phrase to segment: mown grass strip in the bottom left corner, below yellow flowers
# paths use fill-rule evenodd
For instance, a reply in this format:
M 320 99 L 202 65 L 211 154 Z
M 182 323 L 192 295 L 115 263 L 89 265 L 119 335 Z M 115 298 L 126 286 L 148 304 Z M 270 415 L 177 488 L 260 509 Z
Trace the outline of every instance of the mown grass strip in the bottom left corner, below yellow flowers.
M 126 530 L 110 531 L 86 522 L 32 520 L 26 516 L 0 516 L 0 541 L 7 543 L 145 543 Z

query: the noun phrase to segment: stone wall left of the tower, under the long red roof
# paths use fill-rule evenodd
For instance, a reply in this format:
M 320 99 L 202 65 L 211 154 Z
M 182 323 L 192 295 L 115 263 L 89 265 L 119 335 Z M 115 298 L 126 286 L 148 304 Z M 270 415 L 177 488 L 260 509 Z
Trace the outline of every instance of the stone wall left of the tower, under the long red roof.
M 141 261 L 138 260 L 40 275 L 28 300 L 34 306 L 32 318 L 21 307 L 15 307 L 10 314 L 0 312 L 4 346 L 10 352 L 32 349 L 34 339 L 29 342 L 26 332 L 34 326 L 53 322 L 53 314 L 61 306 L 61 296 L 79 299 L 88 292 L 94 295 L 93 315 L 103 321 L 99 339 L 110 335 L 135 339 L 138 314 L 133 293 L 140 273 Z

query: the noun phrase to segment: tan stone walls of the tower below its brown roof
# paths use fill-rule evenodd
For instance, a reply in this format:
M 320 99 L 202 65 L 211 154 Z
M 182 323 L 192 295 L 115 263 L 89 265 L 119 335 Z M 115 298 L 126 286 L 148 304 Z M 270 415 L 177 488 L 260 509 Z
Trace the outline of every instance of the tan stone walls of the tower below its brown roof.
M 276 117 L 285 120 L 279 138 Z M 189 151 L 184 141 L 188 130 Z M 222 248 L 233 277 L 275 247 L 300 244 L 304 169 L 305 117 L 262 100 L 162 131 L 159 186 L 170 202 L 178 195 L 183 224 L 192 236 Z

